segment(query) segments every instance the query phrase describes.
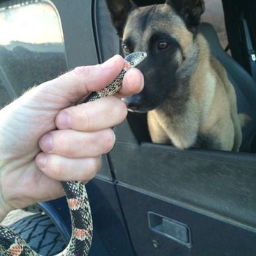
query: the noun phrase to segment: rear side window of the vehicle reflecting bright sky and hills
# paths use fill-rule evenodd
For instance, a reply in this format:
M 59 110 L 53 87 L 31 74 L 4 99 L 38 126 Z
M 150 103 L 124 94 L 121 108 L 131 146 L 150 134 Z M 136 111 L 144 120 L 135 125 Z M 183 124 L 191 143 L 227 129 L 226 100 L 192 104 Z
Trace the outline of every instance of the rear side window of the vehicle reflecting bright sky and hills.
M 67 70 L 56 9 L 50 1 L 19 2 L 0 5 L 0 107 Z

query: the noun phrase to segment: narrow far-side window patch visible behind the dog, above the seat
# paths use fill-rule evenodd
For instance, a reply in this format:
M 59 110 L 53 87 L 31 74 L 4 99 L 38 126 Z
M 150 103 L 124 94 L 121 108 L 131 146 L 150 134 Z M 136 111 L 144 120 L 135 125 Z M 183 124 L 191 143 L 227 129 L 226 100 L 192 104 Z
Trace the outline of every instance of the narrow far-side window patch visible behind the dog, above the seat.
M 202 15 L 201 21 L 211 23 L 217 31 L 222 48 L 228 45 L 227 33 L 225 28 L 224 12 L 222 0 L 205 0 L 206 10 Z

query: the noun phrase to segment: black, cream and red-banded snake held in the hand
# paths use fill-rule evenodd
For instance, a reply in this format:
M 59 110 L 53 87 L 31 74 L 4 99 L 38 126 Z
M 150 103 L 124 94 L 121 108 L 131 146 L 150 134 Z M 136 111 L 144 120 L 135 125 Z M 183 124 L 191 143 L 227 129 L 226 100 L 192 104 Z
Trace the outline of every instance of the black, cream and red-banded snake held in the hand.
M 124 58 L 124 67 L 115 80 L 104 89 L 89 94 L 84 102 L 115 94 L 121 88 L 127 70 L 140 64 L 146 56 L 144 52 L 130 53 Z M 81 181 L 61 181 L 61 184 L 67 197 L 72 234 L 67 247 L 56 256 L 86 256 L 89 254 L 93 235 L 91 208 L 86 187 Z M 0 252 L 6 256 L 40 256 L 18 233 L 2 225 L 0 225 Z

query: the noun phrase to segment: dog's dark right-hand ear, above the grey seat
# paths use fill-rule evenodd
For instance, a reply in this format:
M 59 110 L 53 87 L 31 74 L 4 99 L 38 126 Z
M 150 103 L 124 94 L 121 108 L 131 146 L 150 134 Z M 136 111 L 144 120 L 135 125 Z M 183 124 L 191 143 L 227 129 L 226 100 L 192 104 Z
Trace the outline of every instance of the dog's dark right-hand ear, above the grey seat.
M 204 0 L 166 0 L 166 4 L 181 15 L 187 26 L 197 26 L 200 23 L 200 17 L 205 10 Z

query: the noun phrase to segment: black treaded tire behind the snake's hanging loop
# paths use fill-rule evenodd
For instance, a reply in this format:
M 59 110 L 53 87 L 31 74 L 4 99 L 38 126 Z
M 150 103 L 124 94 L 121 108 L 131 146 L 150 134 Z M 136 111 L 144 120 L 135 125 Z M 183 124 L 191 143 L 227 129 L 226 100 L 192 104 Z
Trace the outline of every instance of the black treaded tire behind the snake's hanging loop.
M 20 219 L 9 227 L 19 233 L 39 255 L 56 255 L 67 246 L 56 225 L 42 213 Z

